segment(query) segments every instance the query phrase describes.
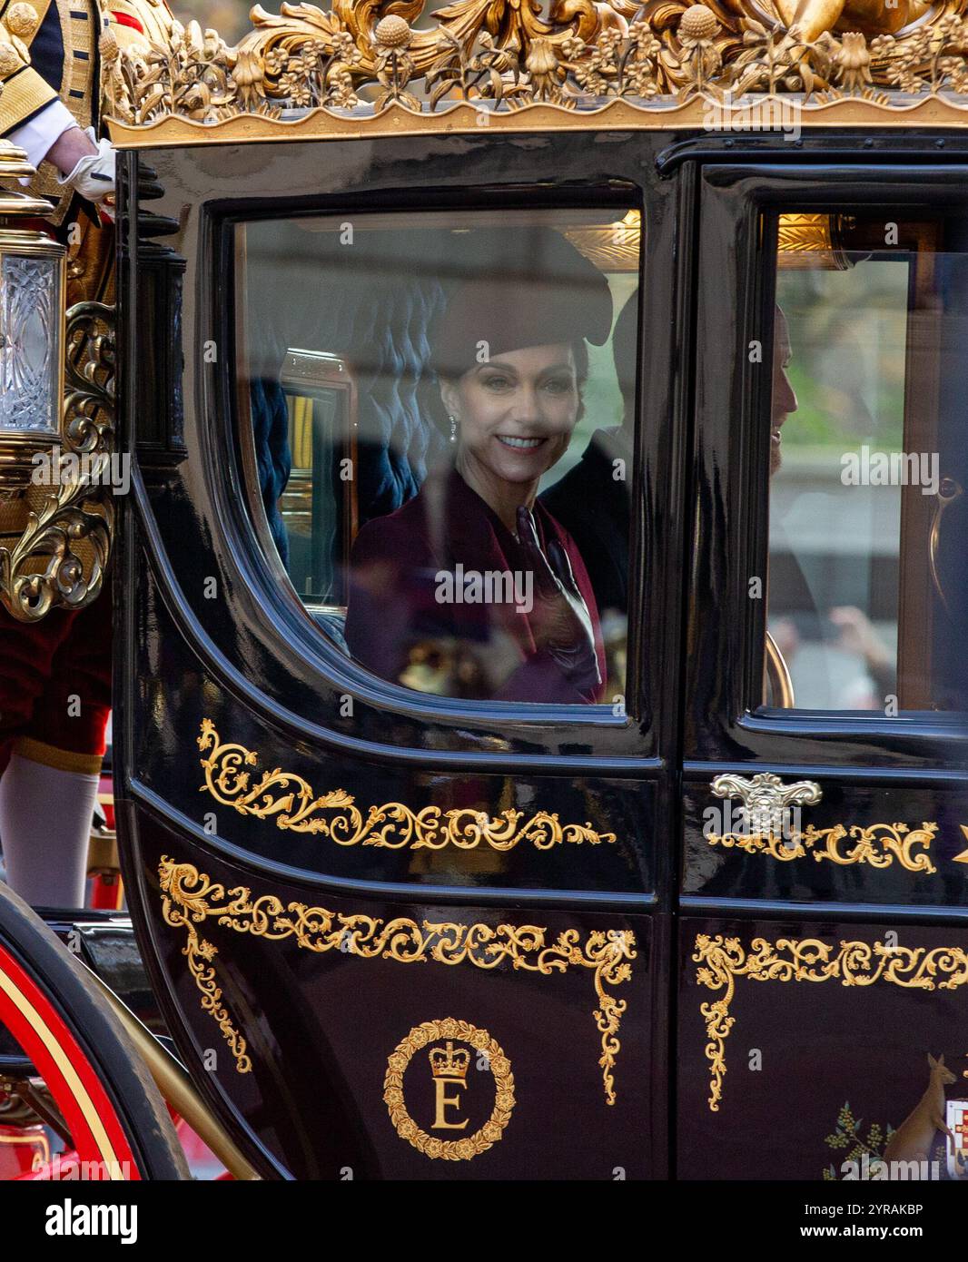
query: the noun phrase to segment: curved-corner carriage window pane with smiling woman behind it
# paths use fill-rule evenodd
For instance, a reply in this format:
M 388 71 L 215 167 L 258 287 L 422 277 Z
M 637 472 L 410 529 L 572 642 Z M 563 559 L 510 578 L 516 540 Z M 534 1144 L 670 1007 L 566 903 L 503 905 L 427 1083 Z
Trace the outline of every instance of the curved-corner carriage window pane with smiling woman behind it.
M 309 616 L 419 692 L 623 694 L 637 212 L 236 231 L 254 520 Z

